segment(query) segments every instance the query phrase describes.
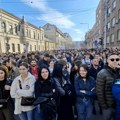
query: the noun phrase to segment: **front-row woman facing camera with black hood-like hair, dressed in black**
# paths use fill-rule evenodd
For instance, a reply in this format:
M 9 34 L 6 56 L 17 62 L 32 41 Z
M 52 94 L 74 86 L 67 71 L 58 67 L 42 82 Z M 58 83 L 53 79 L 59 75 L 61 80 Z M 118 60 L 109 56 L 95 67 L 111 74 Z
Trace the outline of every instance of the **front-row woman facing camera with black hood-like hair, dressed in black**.
M 47 66 L 42 66 L 39 71 L 39 79 L 35 83 L 35 98 L 38 100 L 45 97 L 48 100 L 39 103 L 35 109 L 35 120 L 56 120 L 57 117 L 57 99 L 64 95 L 59 82 L 50 76 Z

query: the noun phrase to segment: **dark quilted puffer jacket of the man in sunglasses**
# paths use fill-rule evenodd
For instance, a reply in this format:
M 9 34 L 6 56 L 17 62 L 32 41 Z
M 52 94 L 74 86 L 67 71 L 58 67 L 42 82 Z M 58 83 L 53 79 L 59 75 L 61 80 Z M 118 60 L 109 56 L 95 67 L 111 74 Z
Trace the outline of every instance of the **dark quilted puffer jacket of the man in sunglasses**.
M 117 71 L 113 70 L 109 66 L 106 66 L 97 75 L 96 94 L 103 109 L 114 107 L 112 85 L 116 77 Z

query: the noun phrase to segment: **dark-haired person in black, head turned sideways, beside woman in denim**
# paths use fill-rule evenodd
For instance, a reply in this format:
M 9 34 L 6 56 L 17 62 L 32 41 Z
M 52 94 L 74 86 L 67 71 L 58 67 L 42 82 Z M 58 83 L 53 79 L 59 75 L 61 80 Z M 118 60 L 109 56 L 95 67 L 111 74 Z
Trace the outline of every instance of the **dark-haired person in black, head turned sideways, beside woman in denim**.
M 58 120 L 73 120 L 73 89 L 67 75 L 66 66 L 56 63 L 53 69 L 53 78 L 56 79 L 65 90 L 65 95 L 60 97 L 58 106 Z

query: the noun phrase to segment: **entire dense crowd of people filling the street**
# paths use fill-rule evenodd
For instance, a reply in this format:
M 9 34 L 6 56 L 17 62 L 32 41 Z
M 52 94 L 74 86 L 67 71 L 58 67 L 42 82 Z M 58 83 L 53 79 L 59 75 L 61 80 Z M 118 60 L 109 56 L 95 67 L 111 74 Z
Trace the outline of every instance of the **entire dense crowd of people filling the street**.
M 120 120 L 120 50 L 0 55 L 0 120 Z

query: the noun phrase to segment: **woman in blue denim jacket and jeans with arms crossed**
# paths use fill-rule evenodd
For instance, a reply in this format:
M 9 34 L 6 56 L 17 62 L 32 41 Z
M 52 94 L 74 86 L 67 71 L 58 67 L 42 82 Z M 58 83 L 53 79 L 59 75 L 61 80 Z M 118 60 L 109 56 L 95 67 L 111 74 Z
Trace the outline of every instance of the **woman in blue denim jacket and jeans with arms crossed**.
M 76 93 L 77 120 L 91 120 L 95 95 L 95 79 L 89 76 L 87 65 L 81 65 L 79 76 L 74 81 Z

